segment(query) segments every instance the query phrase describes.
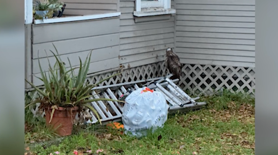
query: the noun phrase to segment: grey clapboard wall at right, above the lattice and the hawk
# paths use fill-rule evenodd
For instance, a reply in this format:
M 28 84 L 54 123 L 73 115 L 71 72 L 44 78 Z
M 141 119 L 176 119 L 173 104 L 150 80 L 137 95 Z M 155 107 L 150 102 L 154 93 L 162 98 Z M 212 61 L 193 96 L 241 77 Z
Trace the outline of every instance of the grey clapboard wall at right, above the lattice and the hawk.
M 184 64 L 255 67 L 255 0 L 175 0 Z

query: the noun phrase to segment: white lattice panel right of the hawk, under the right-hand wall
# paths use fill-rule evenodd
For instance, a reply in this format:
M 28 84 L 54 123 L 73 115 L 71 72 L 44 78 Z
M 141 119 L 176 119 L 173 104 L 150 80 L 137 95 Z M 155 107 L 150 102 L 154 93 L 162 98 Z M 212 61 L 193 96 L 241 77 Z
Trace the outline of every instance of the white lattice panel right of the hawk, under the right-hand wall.
M 255 68 L 185 64 L 179 86 L 194 95 L 211 94 L 222 88 L 255 95 Z

